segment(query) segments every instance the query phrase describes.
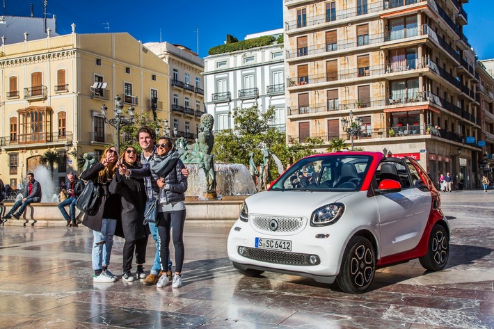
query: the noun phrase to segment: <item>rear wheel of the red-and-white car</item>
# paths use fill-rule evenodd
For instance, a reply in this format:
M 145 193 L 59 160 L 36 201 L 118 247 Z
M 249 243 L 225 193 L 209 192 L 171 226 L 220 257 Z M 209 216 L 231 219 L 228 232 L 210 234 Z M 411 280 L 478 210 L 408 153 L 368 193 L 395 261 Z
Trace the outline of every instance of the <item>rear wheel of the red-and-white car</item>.
M 420 265 L 429 271 L 440 271 L 445 268 L 448 258 L 449 237 L 445 228 L 436 224 L 427 242 L 427 253 L 419 257 Z

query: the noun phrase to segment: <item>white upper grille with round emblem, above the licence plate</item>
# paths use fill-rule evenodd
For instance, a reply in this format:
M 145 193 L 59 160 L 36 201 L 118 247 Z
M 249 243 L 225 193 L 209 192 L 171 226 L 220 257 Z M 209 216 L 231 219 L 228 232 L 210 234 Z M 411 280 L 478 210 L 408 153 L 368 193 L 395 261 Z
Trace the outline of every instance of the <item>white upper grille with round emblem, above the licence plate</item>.
M 276 221 L 276 230 L 273 230 L 273 221 Z M 252 223 L 257 232 L 296 234 L 305 227 L 304 217 L 281 217 L 254 214 Z

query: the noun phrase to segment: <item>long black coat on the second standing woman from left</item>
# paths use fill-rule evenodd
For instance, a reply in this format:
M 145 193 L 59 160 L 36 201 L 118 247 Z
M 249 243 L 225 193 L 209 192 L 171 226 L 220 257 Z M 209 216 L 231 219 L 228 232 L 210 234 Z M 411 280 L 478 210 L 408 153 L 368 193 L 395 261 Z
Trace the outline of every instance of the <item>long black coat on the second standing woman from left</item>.
M 126 164 L 128 168 L 132 166 Z M 127 178 L 115 173 L 110 184 L 110 193 L 120 196 L 122 204 L 121 225 L 117 225 L 116 236 L 122 236 L 125 240 L 135 241 L 148 236 L 144 226 L 144 208 L 148 199 L 144 187 L 144 179 Z

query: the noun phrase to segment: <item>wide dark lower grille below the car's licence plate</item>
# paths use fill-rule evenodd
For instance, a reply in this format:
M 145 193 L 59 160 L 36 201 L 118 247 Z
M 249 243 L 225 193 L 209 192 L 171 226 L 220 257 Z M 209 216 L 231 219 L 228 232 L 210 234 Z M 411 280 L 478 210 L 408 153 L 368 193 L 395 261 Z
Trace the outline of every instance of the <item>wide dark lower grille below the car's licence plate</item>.
M 242 252 L 240 252 L 242 248 Z M 299 266 L 313 266 L 319 264 L 319 257 L 316 256 L 317 262 L 310 263 L 310 256 L 308 254 L 300 254 L 297 252 L 285 252 L 276 250 L 265 250 L 258 248 L 239 247 L 239 255 L 255 259 L 260 262 L 267 262 L 273 264 L 285 264 L 285 265 L 299 265 Z

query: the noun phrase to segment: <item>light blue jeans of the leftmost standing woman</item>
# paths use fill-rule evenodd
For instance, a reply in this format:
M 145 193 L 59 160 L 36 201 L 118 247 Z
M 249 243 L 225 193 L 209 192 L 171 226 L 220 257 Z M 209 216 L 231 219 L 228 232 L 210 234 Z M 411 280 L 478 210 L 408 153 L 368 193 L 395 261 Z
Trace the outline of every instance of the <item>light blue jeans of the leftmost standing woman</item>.
M 116 227 L 116 219 L 103 218 L 101 232 L 93 231 L 93 270 L 101 270 L 102 266 L 109 266 Z

